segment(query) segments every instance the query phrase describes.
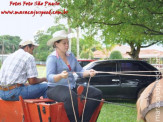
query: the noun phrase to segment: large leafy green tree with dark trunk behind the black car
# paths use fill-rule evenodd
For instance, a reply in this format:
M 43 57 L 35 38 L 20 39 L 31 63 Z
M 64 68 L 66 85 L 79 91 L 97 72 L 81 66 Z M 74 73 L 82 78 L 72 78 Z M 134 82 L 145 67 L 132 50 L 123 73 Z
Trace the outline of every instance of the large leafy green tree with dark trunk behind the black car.
M 141 48 L 163 43 L 162 0 L 63 0 L 72 28 L 102 30 L 105 44 L 128 44 L 139 58 Z

